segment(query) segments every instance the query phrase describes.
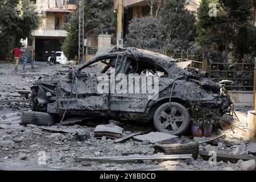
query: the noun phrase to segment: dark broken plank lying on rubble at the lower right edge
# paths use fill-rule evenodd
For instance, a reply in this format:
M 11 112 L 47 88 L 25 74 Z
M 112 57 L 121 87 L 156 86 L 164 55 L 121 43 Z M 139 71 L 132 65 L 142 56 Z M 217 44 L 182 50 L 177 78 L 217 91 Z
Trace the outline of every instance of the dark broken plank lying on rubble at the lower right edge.
M 199 155 L 204 159 L 204 160 L 208 160 L 210 157 L 212 157 L 213 155 L 209 155 L 209 152 L 204 152 L 204 151 L 199 151 Z M 247 156 L 247 155 L 230 155 L 230 154 L 219 154 L 216 153 L 216 160 L 217 162 L 220 162 L 221 160 L 223 162 L 230 162 L 230 163 L 237 163 L 238 160 L 251 160 L 254 159 L 256 160 L 256 156 Z

